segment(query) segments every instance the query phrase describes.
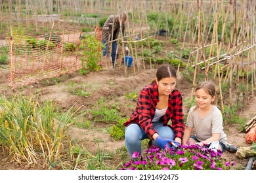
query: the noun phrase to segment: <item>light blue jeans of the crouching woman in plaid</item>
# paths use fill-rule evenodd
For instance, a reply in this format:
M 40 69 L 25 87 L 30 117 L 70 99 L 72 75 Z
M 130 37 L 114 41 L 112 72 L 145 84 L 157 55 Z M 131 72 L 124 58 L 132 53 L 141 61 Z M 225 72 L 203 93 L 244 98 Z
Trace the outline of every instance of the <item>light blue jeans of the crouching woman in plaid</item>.
M 161 138 L 174 138 L 173 130 L 169 126 L 164 126 L 161 122 L 153 122 L 153 126 L 154 129 L 158 131 L 158 135 L 160 135 Z M 125 127 L 125 146 L 130 156 L 132 156 L 134 152 L 139 152 L 141 155 L 141 141 L 143 139 L 150 139 L 150 137 L 146 135 L 138 124 L 131 124 Z M 152 144 L 158 145 L 156 141 L 152 141 Z

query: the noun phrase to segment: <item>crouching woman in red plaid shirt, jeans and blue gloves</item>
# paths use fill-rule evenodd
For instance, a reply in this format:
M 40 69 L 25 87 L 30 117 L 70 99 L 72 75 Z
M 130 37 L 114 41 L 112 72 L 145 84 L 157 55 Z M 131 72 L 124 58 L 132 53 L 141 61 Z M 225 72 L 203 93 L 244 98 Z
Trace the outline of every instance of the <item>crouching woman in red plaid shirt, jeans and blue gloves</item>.
M 134 152 L 141 155 L 143 139 L 152 139 L 152 144 L 161 148 L 170 147 L 173 139 L 181 144 L 185 125 L 176 79 L 173 66 L 161 65 L 152 84 L 140 91 L 135 112 L 124 123 L 125 146 L 131 158 Z M 168 125 L 169 120 L 172 125 Z

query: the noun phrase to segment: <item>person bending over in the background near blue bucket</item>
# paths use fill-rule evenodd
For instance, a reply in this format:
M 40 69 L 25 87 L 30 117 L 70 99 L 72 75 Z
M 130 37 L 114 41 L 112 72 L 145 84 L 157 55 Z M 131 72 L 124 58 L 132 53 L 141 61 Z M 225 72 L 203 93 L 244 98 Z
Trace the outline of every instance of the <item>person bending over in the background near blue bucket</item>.
M 127 16 L 125 13 L 121 14 L 121 16 L 110 15 L 108 16 L 106 22 L 102 27 L 102 43 L 105 45 L 103 50 L 103 56 L 106 56 L 108 52 L 108 44 L 112 45 L 111 57 L 112 57 L 112 65 L 114 67 L 116 61 L 116 52 L 117 52 L 117 44 L 119 33 L 122 33 L 122 36 L 125 36 L 125 21 L 127 20 Z M 125 43 L 125 52 L 129 52 L 129 48 L 127 47 L 127 43 Z

